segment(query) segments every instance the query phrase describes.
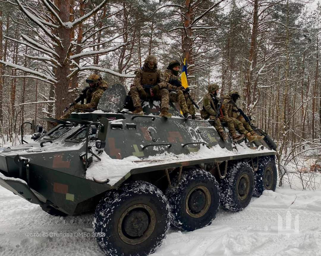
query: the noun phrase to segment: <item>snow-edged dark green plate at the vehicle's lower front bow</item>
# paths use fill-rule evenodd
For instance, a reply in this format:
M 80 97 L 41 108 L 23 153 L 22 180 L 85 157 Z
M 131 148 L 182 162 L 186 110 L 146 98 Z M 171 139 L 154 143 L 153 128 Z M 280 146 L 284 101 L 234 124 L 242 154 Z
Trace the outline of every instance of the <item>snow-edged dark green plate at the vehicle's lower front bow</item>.
M 0 173 L 0 185 L 32 204 L 42 204 L 24 180 L 9 178 Z

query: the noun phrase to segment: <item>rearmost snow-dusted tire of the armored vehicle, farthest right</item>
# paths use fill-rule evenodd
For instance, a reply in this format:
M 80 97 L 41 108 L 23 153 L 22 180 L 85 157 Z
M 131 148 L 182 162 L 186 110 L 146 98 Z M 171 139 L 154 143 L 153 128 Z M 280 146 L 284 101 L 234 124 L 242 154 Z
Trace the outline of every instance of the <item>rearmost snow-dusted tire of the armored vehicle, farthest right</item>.
M 273 158 L 263 156 L 259 158 L 257 171 L 254 173 L 255 187 L 253 196 L 259 197 L 263 191 L 275 191 L 277 183 L 277 170 Z

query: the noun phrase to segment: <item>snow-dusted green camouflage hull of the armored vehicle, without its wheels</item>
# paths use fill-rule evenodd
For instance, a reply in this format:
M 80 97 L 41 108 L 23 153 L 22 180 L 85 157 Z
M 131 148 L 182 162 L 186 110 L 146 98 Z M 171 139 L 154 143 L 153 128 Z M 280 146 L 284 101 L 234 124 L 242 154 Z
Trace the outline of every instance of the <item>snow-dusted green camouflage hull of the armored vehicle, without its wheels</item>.
M 96 122 L 108 118 L 105 134 L 98 134 L 106 142 L 101 161 L 89 153 L 94 161 L 86 170 L 85 138 L 78 135 L 87 126 L 61 124 L 32 143 L 1 151 L 0 172 L 5 176 L 0 177 L 0 185 L 28 201 L 72 215 L 94 209 L 102 193 L 131 175 L 276 153 L 263 140 L 223 142 L 209 121 L 102 111 L 75 117 Z M 89 145 L 98 154 L 95 144 Z

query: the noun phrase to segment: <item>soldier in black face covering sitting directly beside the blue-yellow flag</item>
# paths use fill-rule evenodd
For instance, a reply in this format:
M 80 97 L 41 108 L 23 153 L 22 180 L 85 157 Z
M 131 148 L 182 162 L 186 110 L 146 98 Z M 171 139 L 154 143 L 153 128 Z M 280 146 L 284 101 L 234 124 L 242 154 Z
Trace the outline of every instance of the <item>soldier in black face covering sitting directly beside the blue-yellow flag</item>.
M 166 95 L 168 95 L 169 100 L 171 100 L 173 102 L 178 102 L 179 107 L 180 107 L 184 117 L 187 119 L 191 119 L 192 116 L 189 113 L 189 110 L 188 110 L 188 107 L 186 104 L 187 102 L 186 102 L 184 94 L 183 94 L 184 87 L 182 87 L 182 85 L 180 83 L 180 77 L 177 76 L 179 66 L 180 66 L 180 63 L 178 60 L 171 61 L 169 63 L 167 70 L 162 73 L 161 82 L 153 88 L 153 93 L 155 94 L 159 91 L 166 92 Z M 169 83 L 170 79 L 177 81 L 178 84 L 177 85 L 170 84 Z M 167 89 L 175 90 L 175 92 L 174 91 L 169 92 Z M 166 105 L 163 104 L 163 102 L 162 102 L 162 104 L 161 104 L 162 109 L 161 109 L 160 116 L 167 116 L 167 117 L 171 116 L 171 114 L 168 113 L 169 100 L 167 101 Z M 194 115 L 195 115 L 195 110 L 194 110 Z

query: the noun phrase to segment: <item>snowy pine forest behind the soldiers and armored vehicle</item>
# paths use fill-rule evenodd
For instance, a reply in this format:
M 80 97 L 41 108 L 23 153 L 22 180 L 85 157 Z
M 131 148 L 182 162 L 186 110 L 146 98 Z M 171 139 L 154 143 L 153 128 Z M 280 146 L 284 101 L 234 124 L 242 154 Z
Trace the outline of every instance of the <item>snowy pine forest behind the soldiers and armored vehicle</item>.
M 163 70 L 187 59 L 197 102 L 212 82 L 239 91 L 285 166 L 321 161 L 320 14 L 298 0 L 0 0 L 0 146 L 61 116 L 90 73 L 128 90 L 154 54 Z

